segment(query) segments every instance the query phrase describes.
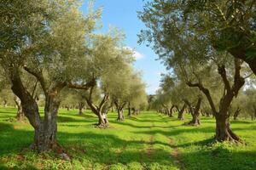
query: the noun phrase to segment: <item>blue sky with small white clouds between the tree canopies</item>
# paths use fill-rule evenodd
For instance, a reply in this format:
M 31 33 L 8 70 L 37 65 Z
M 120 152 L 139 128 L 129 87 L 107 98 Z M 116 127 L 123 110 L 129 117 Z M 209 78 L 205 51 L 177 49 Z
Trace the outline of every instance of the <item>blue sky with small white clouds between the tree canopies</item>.
M 88 1 L 84 1 L 81 10 L 86 12 Z M 124 31 L 125 45 L 137 51 L 135 67 L 143 71 L 143 80 L 147 83 L 147 93 L 154 94 L 159 87 L 160 73 L 165 67 L 160 64 L 157 55 L 151 48 L 137 44 L 137 34 L 144 28 L 143 22 L 138 20 L 137 11 L 143 8 L 143 0 L 95 0 L 95 8 L 103 8 L 102 32 L 108 31 L 109 26 L 115 26 Z

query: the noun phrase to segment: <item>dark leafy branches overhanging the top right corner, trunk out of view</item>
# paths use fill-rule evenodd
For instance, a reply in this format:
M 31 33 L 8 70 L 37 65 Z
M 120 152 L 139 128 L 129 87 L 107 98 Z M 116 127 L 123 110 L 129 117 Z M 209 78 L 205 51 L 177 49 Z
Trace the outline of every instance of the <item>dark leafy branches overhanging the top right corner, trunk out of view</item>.
M 185 26 L 187 33 L 207 39 L 212 48 L 242 59 L 256 74 L 256 34 L 254 0 L 154 0 L 144 5 L 139 18 L 148 27 L 141 36 L 154 41 L 154 47 L 167 45 L 172 37 L 170 28 Z M 158 43 L 155 43 L 157 40 Z M 166 53 L 166 50 L 159 50 Z M 201 56 L 195 56 L 201 58 Z

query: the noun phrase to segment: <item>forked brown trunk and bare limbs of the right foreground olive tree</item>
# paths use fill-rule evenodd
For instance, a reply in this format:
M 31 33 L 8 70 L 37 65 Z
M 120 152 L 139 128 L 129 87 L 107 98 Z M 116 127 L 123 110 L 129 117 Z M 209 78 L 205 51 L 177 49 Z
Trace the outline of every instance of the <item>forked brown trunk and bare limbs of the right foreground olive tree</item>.
M 201 82 L 198 82 L 198 83 L 187 82 L 189 87 L 199 88 L 201 92 L 206 95 L 208 102 L 212 108 L 213 116 L 215 116 L 215 120 L 216 120 L 215 139 L 219 142 L 224 142 L 224 141 L 240 142 L 241 141 L 241 139 L 235 133 L 233 133 L 233 131 L 230 128 L 230 114 L 228 113 L 232 99 L 236 97 L 239 90 L 245 83 L 244 78 L 241 77 L 241 74 L 240 74 L 241 64 L 242 62 L 239 59 L 234 59 L 235 74 L 234 74 L 234 83 L 232 86 L 230 85 L 230 81 L 228 80 L 225 65 L 218 65 L 218 74 L 221 76 L 222 81 L 224 83 L 224 94 L 219 101 L 218 111 L 216 109 L 216 106 L 213 103 L 210 91 L 207 88 L 205 88 Z

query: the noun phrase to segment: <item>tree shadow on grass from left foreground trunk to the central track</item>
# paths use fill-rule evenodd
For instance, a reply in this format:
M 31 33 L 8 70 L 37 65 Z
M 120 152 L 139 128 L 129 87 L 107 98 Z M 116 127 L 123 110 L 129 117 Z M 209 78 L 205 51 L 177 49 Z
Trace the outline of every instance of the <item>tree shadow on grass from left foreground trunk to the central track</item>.
M 112 134 L 102 133 L 59 133 L 58 137 L 67 148 L 72 148 L 73 144 L 79 144 L 80 150 L 84 148 L 86 154 L 77 151 L 73 153 L 71 151 L 71 153 L 76 156 L 84 156 L 91 162 L 110 165 L 137 161 L 145 164 L 156 162 L 167 166 L 173 161 L 170 158 L 171 153 L 167 150 L 154 149 L 151 156 L 148 156 L 147 148 L 150 144 L 165 144 L 157 141 L 150 143 L 149 140 L 125 140 Z

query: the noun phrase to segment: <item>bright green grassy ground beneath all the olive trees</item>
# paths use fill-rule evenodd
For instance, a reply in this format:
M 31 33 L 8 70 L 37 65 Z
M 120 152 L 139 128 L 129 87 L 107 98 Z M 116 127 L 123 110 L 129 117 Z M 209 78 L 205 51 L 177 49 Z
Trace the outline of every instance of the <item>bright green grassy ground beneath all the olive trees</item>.
M 26 150 L 32 143 L 32 127 L 9 122 L 15 109 L 0 109 L 0 169 L 255 169 L 256 122 L 232 122 L 231 127 L 246 144 L 213 144 L 214 120 L 202 118 L 201 127 L 183 126 L 176 118 L 143 112 L 98 129 L 96 116 L 88 111 L 61 110 L 58 139 L 72 161 L 54 153 L 37 154 Z M 187 117 L 189 119 L 189 117 Z

